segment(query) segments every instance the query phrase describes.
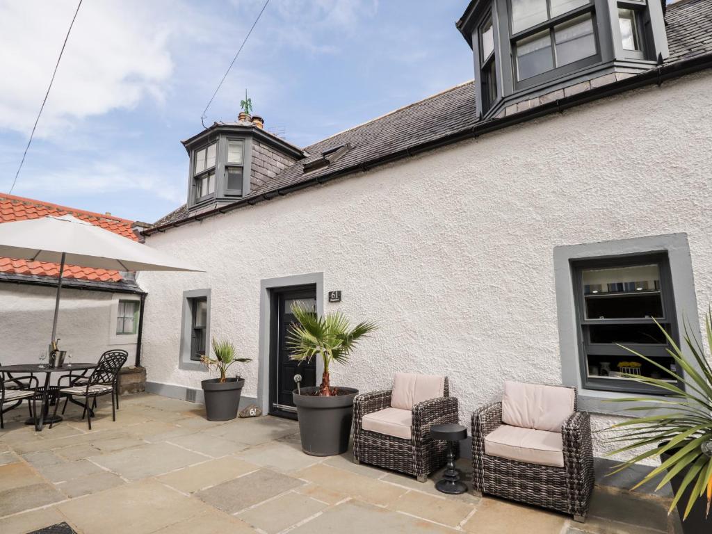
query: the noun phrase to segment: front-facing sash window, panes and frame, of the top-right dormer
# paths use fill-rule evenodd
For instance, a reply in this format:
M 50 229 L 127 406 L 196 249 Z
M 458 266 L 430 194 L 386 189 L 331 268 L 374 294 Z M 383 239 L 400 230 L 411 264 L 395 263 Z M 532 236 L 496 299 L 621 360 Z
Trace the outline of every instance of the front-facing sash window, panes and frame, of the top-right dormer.
M 598 61 L 594 5 L 588 0 L 511 0 L 511 44 L 518 82 Z

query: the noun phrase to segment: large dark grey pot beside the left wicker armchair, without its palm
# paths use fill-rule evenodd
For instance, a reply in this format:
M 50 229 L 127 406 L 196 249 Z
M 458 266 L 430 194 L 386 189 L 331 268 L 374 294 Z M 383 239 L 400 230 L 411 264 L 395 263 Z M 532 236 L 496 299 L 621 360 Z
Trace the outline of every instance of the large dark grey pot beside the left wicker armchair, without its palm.
M 299 419 L 302 450 L 311 456 L 336 456 L 349 448 L 354 397 L 358 389 L 339 387 L 342 394 L 315 397 L 318 387 L 303 387 L 292 392 Z

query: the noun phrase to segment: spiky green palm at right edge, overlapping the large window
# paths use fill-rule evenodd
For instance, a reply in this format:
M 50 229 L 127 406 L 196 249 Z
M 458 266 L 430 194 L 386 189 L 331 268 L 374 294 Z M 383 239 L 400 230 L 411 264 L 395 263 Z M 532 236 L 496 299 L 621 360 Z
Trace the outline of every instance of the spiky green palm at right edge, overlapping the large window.
M 705 323 L 708 346 L 712 347 L 712 310 L 708 312 Z M 660 478 L 656 491 L 669 482 L 674 491 L 670 512 L 677 507 L 684 532 L 712 532 L 712 518 L 709 516 L 712 502 L 712 367 L 701 343 L 689 334 L 689 328 L 685 328 L 684 342 L 691 357 L 683 354 L 661 325 L 658 324 L 658 327 L 671 347 L 668 352 L 676 364 L 674 369 L 683 372 L 679 373 L 624 347 L 656 367 L 661 378 L 622 375 L 659 388 L 664 395 L 612 400 L 639 404 L 629 408 L 631 411 L 654 410 L 653 414 L 635 417 L 611 427 L 617 431 L 612 441 L 627 442 L 611 454 L 644 450 L 616 466 L 612 473 L 659 456 L 660 466 L 648 473 L 633 489 L 655 478 Z

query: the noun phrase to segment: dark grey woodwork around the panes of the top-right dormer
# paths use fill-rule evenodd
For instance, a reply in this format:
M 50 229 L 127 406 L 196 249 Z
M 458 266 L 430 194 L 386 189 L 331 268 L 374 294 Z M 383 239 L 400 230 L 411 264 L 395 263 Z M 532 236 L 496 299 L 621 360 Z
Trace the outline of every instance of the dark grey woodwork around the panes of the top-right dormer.
M 495 71 L 497 98 L 488 102 L 484 98 L 482 83 L 476 83 L 477 112 L 483 119 L 496 117 L 508 105 L 586 80 L 592 80 L 610 72 L 637 73 L 656 65 L 658 56 L 667 58 L 669 49 L 665 33 L 662 7 L 659 1 L 639 0 L 591 0 L 548 21 L 535 24 L 518 33 L 511 33 L 511 0 L 481 0 L 468 6 L 459 28 L 473 51 L 475 78 L 481 80 L 480 28 L 491 12 L 495 37 Z M 618 19 L 619 6 L 636 9 L 640 14 L 643 51 L 624 50 Z M 572 63 L 553 68 L 544 73 L 518 80 L 514 43 L 520 38 L 552 28 L 555 25 L 591 13 L 597 53 Z M 553 31 L 551 32 L 553 34 Z

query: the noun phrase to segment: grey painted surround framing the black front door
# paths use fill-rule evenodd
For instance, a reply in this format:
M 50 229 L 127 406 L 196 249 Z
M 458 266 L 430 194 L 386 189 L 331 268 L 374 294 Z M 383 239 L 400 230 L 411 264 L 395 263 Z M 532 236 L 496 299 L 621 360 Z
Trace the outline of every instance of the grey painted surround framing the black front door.
M 308 273 L 278 278 L 265 278 L 260 281 L 260 329 L 258 342 L 257 405 L 262 413 L 269 411 L 269 357 L 270 357 L 270 314 L 272 290 L 292 286 L 316 286 L 316 312 L 324 313 L 324 273 Z M 323 373 L 323 363 L 316 362 L 316 375 Z

